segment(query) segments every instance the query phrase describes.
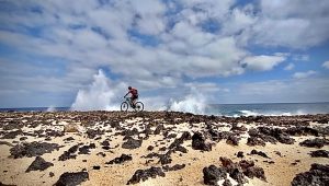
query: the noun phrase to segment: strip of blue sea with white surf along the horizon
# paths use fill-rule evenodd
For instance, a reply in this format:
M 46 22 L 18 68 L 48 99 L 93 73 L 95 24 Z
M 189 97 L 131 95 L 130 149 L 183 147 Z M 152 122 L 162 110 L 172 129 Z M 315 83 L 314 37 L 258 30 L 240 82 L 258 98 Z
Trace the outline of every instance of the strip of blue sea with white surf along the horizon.
M 70 111 L 70 107 L 0 108 L 0 112 L 58 112 L 58 111 Z M 293 116 L 293 115 L 307 115 L 307 114 L 329 114 L 329 102 L 212 104 L 212 105 L 206 105 L 202 114 L 228 116 L 228 117 L 260 116 L 260 115 Z

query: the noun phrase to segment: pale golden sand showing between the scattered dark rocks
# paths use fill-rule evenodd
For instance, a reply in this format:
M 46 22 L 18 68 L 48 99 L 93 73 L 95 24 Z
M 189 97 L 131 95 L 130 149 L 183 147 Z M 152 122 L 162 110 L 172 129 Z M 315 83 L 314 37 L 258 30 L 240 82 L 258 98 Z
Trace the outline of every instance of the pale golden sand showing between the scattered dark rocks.
M 29 115 L 29 114 L 26 114 Z M 8 116 L 5 116 L 8 117 Z M 4 118 L 4 116 L 2 117 Z M 10 118 L 7 118 L 10 120 Z M 24 123 L 24 120 L 22 120 Z M 49 125 L 50 124 L 50 125 Z M 145 170 L 150 166 L 161 167 L 161 164 L 158 162 L 157 158 L 154 158 L 154 162 L 147 163 L 148 159 L 141 158 L 143 155 L 147 155 L 150 152 L 164 153 L 166 151 L 159 151 L 162 147 L 168 147 L 173 142 L 172 139 L 163 139 L 163 136 L 160 135 L 150 135 L 147 140 L 143 140 L 141 147 L 137 149 L 123 149 L 122 143 L 124 142 L 123 136 L 115 135 L 117 132 L 116 129 L 111 128 L 111 126 L 104 127 L 103 125 L 99 125 L 99 123 L 94 123 L 89 125 L 88 127 L 81 123 L 71 121 L 70 118 L 54 118 L 53 120 L 48 120 L 48 125 L 38 125 L 37 127 L 29 127 L 24 126 L 22 128 L 23 131 L 34 132 L 36 130 L 45 130 L 53 129 L 63 131 L 64 126 L 75 124 L 79 126 L 79 131 L 77 132 L 65 132 L 63 137 L 50 137 L 50 141 L 45 141 L 45 137 L 32 137 L 26 136 L 27 139 L 24 142 L 32 141 L 41 141 L 41 142 L 49 142 L 57 143 L 64 146 L 58 151 L 55 150 L 52 153 L 45 153 L 41 155 L 47 162 L 54 163 L 54 166 L 48 167 L 45 171 L 32 171 L 25 173 L 26 168 L 34 161 L 35 156 L 32 158 L 20 158 L 13 159 L 10 156 L 10 149 L 12 147 L 7 144 L 0 146 L 0 182 L 2 184 L 12 184 L 12 185 L 54 185 L 59 176 L 65 172 L 80 172 L 82 168 L 86 168 L 89 173 L 89 181 L 83 182 L 81 185 L 126 185 L 129 178 L 134 175 L 136 170 Z M 120 123 L 120 125 L 126 129 L 137 128 L 139 131 L 144 129 L 143 125 L 145 120 L 140 117 L 129 117 L 124 118 Z M 168 125 L 166 121 L 152 120 L 151 130 L 155 130 L 159 124 L 163 124 L 164 128 L 170 128 L 172 125 Z M 230 129 L 229 123 L 220 123 L 218 125 L 223 125 L 224 127 L 219 127 L 220 131 L 228 131 Z M 248 129 L 251 127 L 256 127 L 256 124 L 239 124 L 239 126 L 246 126 Z M 266 124 L 263 124 L 264 126 Z M 171 129 L 170 133 L 177 133 L 177 138 L 181 136 L 183 131 L 190 131 L 193 133 L 194 131 L 202 131 L 205 128 L 204 123 L 195 123 L 192 124 L 191 127 L 188 123 L 180 123 L 175 125 L 175 128 Z M 259 127 L 260 125 L 258 125 Z M 311 126 L 322 126 L 326 127 L 328 124 L 318 124 L 311 123 Z M 112 129 L 112 132 L 104 132 L 100 137 L 100 139 L 89 139 L 87 138 L 86 130 L 88 128 L 92 129 L 103 129 L 109 130 Z M 4 131 L 2 128 L 0 131 Z M 2 135 L 3 136 L 3 135 Z M 0 136 L 0 137 L 2 137 Z M 143 135 L 141 135 L 143 136 Z M 13 146 L 21 143 L 20 138 L 22 135 L 16 136 L 14 139 L 0 139 L 0 141 L 7 141 L 12 143 Z M 64 139 L 68 137 L 72 137 L 75 140 L 70 142 L 65 142 Z M 248 133 L 243 133 L 241 136 L 241 140 L 239 141 L 239 146 L 227 144 L 225 140 L 219 142 L 213 142 L 212 151 L 200 151 L 192 149 L 192 140 L 186 140 L 183 142 L 183 147 L 188 149 L 188 153 L 175 152 L 171 154 L 172 162 L 169 164 L 185 164 L 185 167 L 179 171 L 170 171 L 164 172 L 166 176 L 156 178 L 148 178 L 145 182 L 140 182 L 136 185 L 204 185 L 203 178 L 203 168 L 205 166 L 209 166 L 212 164 L 216 166 L 220 166 L 222 163 L 219 161 L 219 156 L 226 156 L 231 159 L 234 162 L 238 162 L 241 159 L 237 158 L 236 153 L 238 151 L 242 151 L 245 154 L 243 160 L 252 160 L 254 161 L 257 166 L 260 166 L 264 170 L 266 182 L 261 181 L 259 178 L 248 178 L 247 184 L 245 185 L 291 185 L 291 182 L 295 177 L 296 174 L 306 172 L 309 170 L 310 164 L 319 163 L 319 164 L 328 164 L 328 158 L 310 158 L 309 152 L 314 150 L 319 150 L 318 148 L 306 148 L 299 146 L 300 141 L 306 139 L 313 139 L 314 136 L 300 136 L 300 137 L 292 137 L 296 141 L 294 144 L 283 144 L 276 143 L 272 144 L 266 142 L 265 147 L 247 146 Z M 110 150 L 102 149 L 100 144 L 105 139 L 110 139 Z M 159 141 L 160 140 L 160 141 Z M 97 148 L 91 149 L 90 154 L 78 154 L 76 159 L 69 159 L 67 161 L 58 161 L 58 156 L 60 156 L 64 151 L 67 151 L 70 147 L 83 143 L 90 144 L 95 143 Z M 148 151 L 147 148 L 149 146 L 154 146 L 155 149 L 152 151 Z M 157 147 L 158 146 L 158 147 Z M 265 152 L 270 159 L 262 158 L 260 155 L 250 155 L 251 150 L 258 150 Z M 329 150 L 328 146 L 325 146 L 325 150 Z M 103 152 L 106 155 L 101 156 L 98 155 L 99 152 Z M 281 153 L 281 155 L 277 154 Z M 124 162 L 123 164 L 105 164 L 110 160 L 120 156 L 121 154 L 131 154 L 133 156 L 132 161 Z M 249 155 L 248 155 L 249 154 Z M 296 162 L 295 165 L 292 163 Z M 273 161 L 274 163 L 269 163 Z M 100 170 L 93 170 L 94 165 L 99 165 Z M 49 173 L 54 173 L 55 176 L 50 177 Z M 235 181 L 231 179 L 234 183 Z

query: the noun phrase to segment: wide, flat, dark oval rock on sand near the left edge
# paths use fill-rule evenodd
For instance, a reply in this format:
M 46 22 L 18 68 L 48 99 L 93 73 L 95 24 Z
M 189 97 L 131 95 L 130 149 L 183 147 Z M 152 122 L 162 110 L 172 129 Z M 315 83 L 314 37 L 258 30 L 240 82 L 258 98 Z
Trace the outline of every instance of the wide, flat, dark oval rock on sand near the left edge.
M 37 156 L 43 155 L 44 153 L 50 153 L 54 150 L 59 150 L 58 144 L 47 143 L 47 142 L 36 142 L 31 143 L 20 143 L 10 149 L 10 156 L 14 159 L 23 156 Z

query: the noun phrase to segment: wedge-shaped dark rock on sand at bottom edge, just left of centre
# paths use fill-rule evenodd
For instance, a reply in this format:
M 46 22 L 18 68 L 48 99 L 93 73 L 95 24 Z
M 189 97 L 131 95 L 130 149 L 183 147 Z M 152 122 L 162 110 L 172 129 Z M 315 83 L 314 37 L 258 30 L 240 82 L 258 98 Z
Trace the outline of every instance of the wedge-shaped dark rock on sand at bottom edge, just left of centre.
M 156 178 L 157 176 L 161 176 L 161 177 L 166 176 L 166 174 L 163 173 L 161 167 L 151 166 L 148 170 L 137 170 L 135 172 L 135 174 L 133 175 L 133 177 L 127 182 L 127 185 L 137 184 L 140 181 L 144 182 L 144 181 L 148 179 L 149 177 Z

